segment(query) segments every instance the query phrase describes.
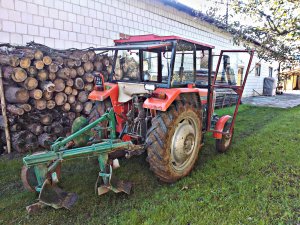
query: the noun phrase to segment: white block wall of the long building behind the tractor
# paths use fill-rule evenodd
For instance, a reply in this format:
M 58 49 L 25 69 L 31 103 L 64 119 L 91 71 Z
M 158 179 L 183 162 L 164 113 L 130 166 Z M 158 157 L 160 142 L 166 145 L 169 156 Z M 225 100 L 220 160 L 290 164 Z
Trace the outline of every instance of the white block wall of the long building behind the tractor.
M 120 33 L 183 36 L 216 46 L 216 54 L 240 49 L 230 34 L 159 0 L 1 0 L 2 43 L 35 41 L 54 48 L 88 48 L 113 45 Z M 252 67 L 258 61 L 255 58 Z M 252 95 L 253 89 L 262 92 L 268 68 L 262 62 L 260 77 L 251 72 L 244 96 Z

